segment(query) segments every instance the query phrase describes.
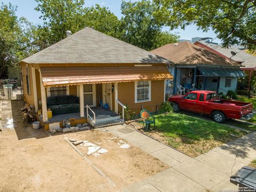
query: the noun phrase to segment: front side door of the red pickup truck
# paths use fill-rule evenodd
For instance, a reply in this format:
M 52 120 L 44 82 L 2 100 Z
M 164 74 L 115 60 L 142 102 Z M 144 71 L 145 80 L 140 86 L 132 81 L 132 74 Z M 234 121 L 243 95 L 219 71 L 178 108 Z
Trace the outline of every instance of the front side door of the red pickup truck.
M 196 112 L 197 93 L 189 93 L 180 101 L 181 109 Z

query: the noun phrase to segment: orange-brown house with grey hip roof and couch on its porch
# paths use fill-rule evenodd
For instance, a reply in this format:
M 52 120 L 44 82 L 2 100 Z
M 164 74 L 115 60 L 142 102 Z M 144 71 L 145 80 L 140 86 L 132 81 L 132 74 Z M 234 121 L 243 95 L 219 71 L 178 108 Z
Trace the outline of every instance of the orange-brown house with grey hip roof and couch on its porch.
M 96 125 L 105 116 L 116 119 L 121 112 L 124 117 L 125 106 L 136 113 L 158 110 L 165 79 L 173 78 L 168 63 L 86 27 L 20 62 L 23 96 L 36 113 L 42 110 L 37 116 L 46 130 L 69 118 L 74 124 Z

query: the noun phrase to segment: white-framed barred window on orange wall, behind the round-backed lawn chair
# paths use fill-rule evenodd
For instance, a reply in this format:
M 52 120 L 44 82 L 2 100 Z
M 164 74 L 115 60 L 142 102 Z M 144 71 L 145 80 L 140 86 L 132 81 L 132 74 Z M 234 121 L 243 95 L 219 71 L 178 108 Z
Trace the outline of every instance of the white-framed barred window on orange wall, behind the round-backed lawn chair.
M 135 82 L 135 102 L 145 102 L 151 100 L 151 82 Z

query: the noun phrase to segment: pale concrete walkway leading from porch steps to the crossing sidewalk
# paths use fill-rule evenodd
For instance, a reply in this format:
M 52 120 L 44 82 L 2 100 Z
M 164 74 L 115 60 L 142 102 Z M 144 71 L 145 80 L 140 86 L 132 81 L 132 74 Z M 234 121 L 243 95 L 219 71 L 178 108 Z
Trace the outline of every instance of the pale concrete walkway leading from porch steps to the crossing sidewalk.
M 143 135 L 131 126 L 105 127 L 170 166 L 169 169 L 145 178 L 123 191 L 189 191 L 199 192 L 236 189 L 230 175 L 256 158 L 256 132 L 191 158 Z

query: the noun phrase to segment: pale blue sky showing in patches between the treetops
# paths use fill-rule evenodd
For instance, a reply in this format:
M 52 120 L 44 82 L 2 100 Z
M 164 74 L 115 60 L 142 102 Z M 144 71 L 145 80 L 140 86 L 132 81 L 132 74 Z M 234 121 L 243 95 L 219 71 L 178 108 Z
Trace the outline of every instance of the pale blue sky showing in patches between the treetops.
M 134 2 L 135 0 L 132 0 Z M 30 22 L 33 22 L 35 25 L 42 24 L 43 20 L 39 19 L 41 15 L 40 12 L 37 12 L 34 8 L 37 6 L 37 3 L 34 0 L 0 0 L 3 3 L 12 3 L 17 5 L 17 16 L 25 17 Z M 121 14 L 121 2 L 122 0 L 85 0 L 85 6 L 92 6 L 99 4 L 101 6 L 107 6 L 111 12 L 113 12 L 118 18 L 122 17 Z M 164 28 L 166 29 L 166 28 Z M 212 37 L 215 38 L 216 34 L 212 30 L 204 33 L 202 30 L 197 30 L 196 26 L 190 25 L 183 29 L 175 29 L 171 33 L 178 33 L 180 39 L 191 40 L 192 37 Z M 220 39 L 215 39 L 214 42 L 220 43 Z

